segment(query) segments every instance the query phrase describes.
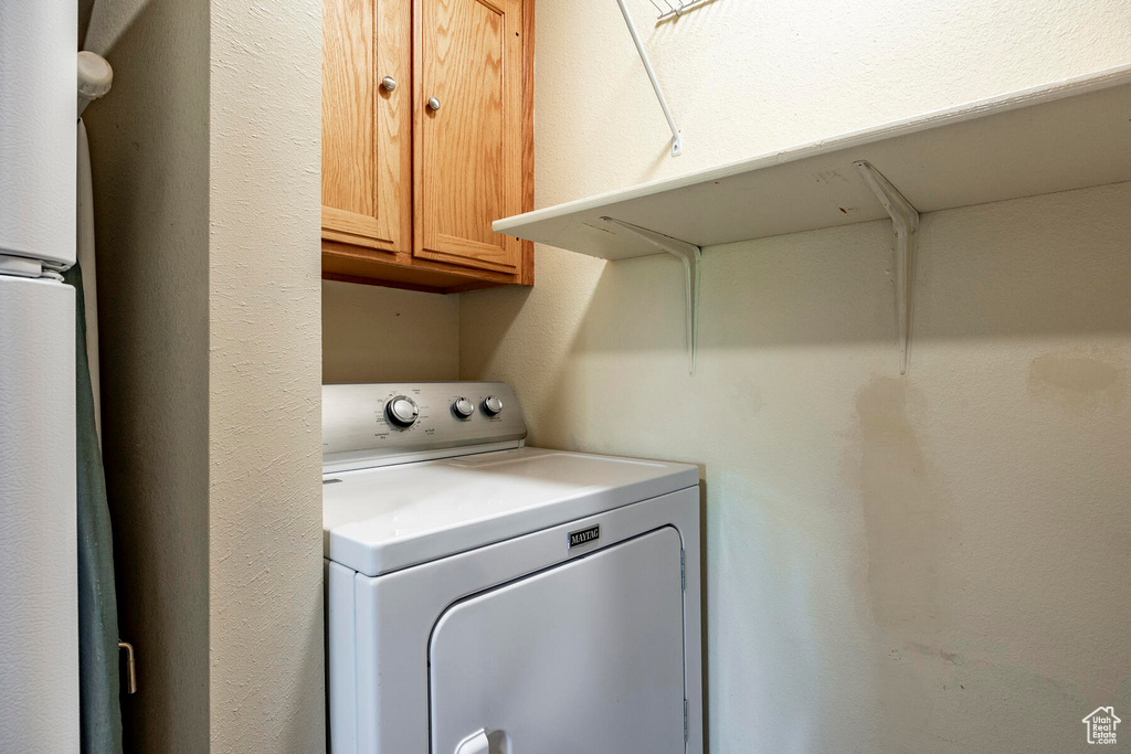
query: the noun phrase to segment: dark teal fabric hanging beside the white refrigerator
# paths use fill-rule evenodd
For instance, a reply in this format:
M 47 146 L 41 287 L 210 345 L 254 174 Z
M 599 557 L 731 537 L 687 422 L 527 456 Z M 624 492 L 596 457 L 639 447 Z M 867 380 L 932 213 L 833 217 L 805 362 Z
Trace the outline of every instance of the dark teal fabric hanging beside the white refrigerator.
M 78 670 L 83 754 L 121 754 L 118 690 L 118 601 L 106 478 L 94 424 L 86 350 L 83 270 L 63 276 L 75 288 L 76 408 L 78 414 Z

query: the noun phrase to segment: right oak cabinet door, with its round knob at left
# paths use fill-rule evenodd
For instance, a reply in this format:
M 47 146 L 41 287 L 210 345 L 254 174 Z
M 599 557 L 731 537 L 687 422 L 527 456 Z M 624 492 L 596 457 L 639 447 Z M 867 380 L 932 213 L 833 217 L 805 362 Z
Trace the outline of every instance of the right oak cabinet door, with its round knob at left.
M 523 2 L 417 0 L 415 33 L 414 253 L 516 272 L 491 223 L 523 210 Z

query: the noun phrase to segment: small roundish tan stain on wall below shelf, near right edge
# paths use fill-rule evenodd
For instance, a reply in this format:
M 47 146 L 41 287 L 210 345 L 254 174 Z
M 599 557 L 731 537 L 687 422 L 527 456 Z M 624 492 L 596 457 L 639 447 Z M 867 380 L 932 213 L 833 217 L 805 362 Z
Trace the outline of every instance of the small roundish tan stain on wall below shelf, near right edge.
M 1126 391 L 1126 369 L 1107 354 L 1044 354 L 1029 364 L 1029 396 L 1069 410 L 1119 408 Z

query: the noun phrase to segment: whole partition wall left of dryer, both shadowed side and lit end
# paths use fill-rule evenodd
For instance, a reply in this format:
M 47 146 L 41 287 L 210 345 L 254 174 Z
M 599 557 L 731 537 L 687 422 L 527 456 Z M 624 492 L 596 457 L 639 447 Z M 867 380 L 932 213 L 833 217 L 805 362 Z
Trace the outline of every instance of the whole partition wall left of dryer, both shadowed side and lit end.
M 87 111 L 127 749 L 321 751 L 321 5 L 127 5 Z

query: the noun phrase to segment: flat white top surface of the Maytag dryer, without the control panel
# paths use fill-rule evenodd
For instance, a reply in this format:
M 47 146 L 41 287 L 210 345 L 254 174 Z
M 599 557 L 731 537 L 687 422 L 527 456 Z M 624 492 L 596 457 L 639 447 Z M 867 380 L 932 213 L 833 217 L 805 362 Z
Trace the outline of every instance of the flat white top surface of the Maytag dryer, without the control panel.
M 699 484 L 699 469 L 520 448 L 328 474 L 326 557 L 379 575 Z

